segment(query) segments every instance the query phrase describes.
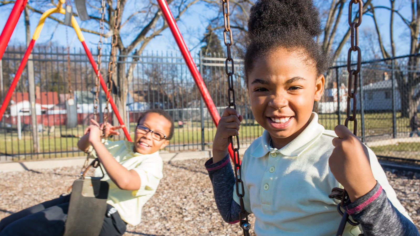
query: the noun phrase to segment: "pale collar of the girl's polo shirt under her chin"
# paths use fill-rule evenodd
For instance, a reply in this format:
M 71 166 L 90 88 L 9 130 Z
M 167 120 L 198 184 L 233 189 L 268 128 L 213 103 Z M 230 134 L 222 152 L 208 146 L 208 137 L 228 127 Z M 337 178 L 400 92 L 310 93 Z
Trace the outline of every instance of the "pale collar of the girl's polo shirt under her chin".
M 284 156 L 289 157 L 297 157 L 304 150 L 306 150 L 313 142 L 316 141 L 325 130 L 324 126 L 320 125 L 318 123 L 318 114 L 315 112 L 312 112 L 311 117 L 309 118 L 310 123 L 309 125 L 302 131 L 302 133 L 299 134 L 299 136 L 296 137 L 296 139 L 293 139 L 289 144 L 282 147 L 281 149 L 273 148 L 270 145 L 271 142 L 271 136 L 268 131 L 264 131 L 261 136 L 261 143 L 259 144 L 259 148 L 255 148 L 251 156 L 252 157 L 263 157 L 268 152 L 276 152 L 280 153 Z

